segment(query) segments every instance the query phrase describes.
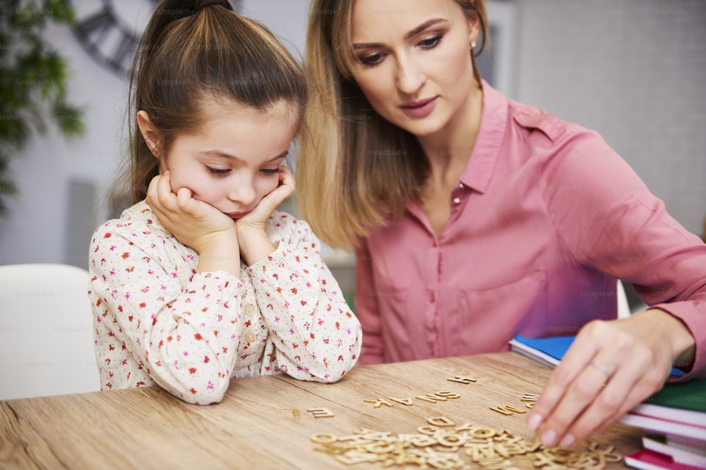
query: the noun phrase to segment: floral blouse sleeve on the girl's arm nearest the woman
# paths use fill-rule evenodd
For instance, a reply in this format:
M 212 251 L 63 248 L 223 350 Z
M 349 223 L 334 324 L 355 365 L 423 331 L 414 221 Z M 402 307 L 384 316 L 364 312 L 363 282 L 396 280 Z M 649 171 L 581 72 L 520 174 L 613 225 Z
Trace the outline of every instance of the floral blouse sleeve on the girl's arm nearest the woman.
M 248 271 L 277 368 L 299 380 L 338 381 L 359 357 L 360 323 L 321 259 L 309 224 L 283 213 L 273 217 L 291 230 L 282 230 L 289 233 L 275 252 Z

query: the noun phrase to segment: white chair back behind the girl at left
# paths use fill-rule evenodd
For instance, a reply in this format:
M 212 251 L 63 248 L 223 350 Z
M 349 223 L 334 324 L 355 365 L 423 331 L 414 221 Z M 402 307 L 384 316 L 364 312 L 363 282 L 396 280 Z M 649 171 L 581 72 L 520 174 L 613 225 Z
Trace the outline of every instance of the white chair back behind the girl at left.
M 0 266 L 0 400 L 100 390 L 88 271 Z

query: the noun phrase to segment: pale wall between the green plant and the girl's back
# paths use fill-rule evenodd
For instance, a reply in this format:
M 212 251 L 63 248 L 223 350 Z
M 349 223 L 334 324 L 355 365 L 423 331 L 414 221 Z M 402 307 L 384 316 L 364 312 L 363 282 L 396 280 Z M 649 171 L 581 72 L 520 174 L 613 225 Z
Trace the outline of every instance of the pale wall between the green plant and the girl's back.
M 0 264 L 78 264 L 66 254 L 68 224 L 92 231 L 95 226 L 88 227 L 88 221 L 94 219 L 90 225 L 95 225 L 95 217 L 69 213 L 68 181 L 77 178 L 102 187 L 121 154 L 116 130 L 122 125 L 126 84 L 97 66 L 68 28 L 50 25 L 47 39 L 68 58 L 68 102 L 84 107 L 86 132 L 66 142 L 49 126 L 47 135 L 35 137 L 11 162 L 19 194 L 0 219 Z M 97 207 L 100 202 L 95 202 Z

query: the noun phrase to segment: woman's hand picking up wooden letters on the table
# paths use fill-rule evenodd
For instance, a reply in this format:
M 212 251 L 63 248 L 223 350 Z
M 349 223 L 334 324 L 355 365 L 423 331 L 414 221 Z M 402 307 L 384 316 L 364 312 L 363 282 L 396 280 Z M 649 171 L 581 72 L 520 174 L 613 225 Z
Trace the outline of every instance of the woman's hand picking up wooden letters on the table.
M 693 364 L 694 339 L 675 316 L 648 309 L 580 330 L 527 422 L 545 446 L 571 447 L 660 390 L 672 364 Z

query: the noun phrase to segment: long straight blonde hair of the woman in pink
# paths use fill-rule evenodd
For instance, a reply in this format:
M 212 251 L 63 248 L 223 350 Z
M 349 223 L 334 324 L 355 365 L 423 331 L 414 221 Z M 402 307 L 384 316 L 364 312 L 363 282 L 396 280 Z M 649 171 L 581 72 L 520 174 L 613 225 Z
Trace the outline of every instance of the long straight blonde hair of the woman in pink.
M 483 0 L 454 0 L 488 37 Z M 314 0 L 309 12 L 305 70 L 311 87 L 310 132 L 301 138 L 297 165 L 299 206 L 313 230 L 332 247 L 350 249 L 371 225 L 400 217 L 419 201 L 429 160 L 417 138 L 372 109 L 352 78 L 353 0 Z M 316 188 L 316 189 L 315 189 Z M 322 197 L 323 195 L 323 197 Z

